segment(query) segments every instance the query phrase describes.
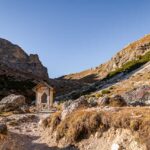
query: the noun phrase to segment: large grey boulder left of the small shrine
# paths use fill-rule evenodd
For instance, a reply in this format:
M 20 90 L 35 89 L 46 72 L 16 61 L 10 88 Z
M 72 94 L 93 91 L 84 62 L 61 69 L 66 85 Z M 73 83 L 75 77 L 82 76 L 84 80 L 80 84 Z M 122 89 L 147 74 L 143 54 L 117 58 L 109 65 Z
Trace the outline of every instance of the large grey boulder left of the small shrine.
M 25 97 L 11 94 L 0 101 L 0 111 L 14 111 L 25 105 Z

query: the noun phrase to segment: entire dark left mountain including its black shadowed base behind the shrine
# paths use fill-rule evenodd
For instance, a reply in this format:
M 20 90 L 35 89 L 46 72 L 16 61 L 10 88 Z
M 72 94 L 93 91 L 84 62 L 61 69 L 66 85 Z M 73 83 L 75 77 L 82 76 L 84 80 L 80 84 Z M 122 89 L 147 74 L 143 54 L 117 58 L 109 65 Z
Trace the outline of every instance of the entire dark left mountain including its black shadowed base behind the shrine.
M 0 100 L 9 94 L 22 94 L 27 102 L 35 100 L 32 88 L 49 80 L 47 68 L 38 55 L 27 55 L 22 48 L 0 38 Z

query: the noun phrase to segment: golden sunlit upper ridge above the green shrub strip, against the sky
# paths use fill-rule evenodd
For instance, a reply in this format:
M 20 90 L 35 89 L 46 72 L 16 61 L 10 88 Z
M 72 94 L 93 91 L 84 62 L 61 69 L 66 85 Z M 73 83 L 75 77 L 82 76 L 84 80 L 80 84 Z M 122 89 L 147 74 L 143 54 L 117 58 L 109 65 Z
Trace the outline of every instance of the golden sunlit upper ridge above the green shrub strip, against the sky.
M 150 51 L 150 35 L 146 35 L 140 40 L 137 40 L 118 52 L 108 62 L 94 68 L 85 70 L 80 73 L 70 74 L 63 79 L 80 80 L 85 83 L 93 83 L 104 78 L 110 72 L 121 68 L 125 63 L 136 60 L 146 52 Z

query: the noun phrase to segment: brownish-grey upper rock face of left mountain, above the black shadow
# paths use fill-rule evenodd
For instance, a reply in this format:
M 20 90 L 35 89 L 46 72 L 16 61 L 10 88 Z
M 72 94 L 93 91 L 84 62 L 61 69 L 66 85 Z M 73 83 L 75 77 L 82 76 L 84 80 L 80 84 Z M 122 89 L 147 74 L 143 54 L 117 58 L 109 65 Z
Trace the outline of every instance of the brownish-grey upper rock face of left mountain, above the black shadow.
M 47 68 L 39 60 L 38 55 L 27 55 L 22 48 L 0 38 L 0 63 L 21 72 L 30 73 L 42 79 L 48 78 Z

